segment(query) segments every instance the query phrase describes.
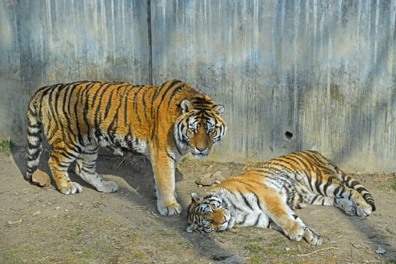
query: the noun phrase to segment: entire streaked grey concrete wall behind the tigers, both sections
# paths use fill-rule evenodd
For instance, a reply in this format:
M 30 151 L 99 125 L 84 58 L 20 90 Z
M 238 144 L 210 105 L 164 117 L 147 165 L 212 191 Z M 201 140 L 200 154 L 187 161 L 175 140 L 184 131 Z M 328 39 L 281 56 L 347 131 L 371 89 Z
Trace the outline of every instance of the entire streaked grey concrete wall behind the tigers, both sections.
M 40 85 L 177 78 L 225 106 L 213 160 L 396 170 L 395 17 L 395 0 L 3 0 L 0 136 L 24 142 Z

